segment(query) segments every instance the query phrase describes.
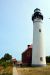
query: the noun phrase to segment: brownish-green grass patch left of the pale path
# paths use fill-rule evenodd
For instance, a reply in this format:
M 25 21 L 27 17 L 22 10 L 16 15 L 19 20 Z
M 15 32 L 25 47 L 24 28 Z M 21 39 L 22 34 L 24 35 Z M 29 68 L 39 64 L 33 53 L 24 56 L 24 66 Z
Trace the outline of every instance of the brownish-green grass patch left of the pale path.
M 12 75 L 12 66 L 8 66 L 7 68 L 4 68 L 3 66 L 0 66 L 0 75 Z

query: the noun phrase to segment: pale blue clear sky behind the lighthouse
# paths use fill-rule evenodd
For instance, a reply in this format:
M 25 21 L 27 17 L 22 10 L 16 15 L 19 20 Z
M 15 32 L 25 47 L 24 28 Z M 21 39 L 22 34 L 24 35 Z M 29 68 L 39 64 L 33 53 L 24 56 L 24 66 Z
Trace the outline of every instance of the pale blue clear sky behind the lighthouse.
M 33 43 L 34 9 L 44 15 L 45 50 L 50 55 L 50 0 L 0 0 L 0 58 L 9 53 L 17 60 Z

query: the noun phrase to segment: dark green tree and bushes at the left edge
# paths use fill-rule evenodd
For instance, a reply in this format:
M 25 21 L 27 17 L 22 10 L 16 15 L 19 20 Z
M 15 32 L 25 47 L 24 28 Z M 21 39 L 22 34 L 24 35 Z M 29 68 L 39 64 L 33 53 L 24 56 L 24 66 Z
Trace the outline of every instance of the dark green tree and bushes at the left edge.
M 0 65 L 2 65 L 4 68 L 6 68 L 7 66 L 12 65 L 12 56 L 10 54 L 5 54 L 4 57 L 2 57 L 0 59 Z

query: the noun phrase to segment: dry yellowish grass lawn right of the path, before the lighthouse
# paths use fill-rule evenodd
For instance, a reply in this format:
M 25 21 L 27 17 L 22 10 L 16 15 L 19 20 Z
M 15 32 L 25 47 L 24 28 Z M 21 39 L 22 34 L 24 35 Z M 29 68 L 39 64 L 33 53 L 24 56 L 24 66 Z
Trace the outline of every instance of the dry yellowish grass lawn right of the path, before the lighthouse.
M 50 65 L 46 67 L 17 68 L 19 75 L 50 75 Z

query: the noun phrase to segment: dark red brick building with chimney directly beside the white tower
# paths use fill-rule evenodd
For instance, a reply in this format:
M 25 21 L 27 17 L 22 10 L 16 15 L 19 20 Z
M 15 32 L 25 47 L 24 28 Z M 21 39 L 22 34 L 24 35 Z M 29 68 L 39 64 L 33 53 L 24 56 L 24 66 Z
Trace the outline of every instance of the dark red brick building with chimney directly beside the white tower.
M 22 53 L 23 65 L 31 65 L 32 61 L 32 45 L 28 45 L 27 49 Z

